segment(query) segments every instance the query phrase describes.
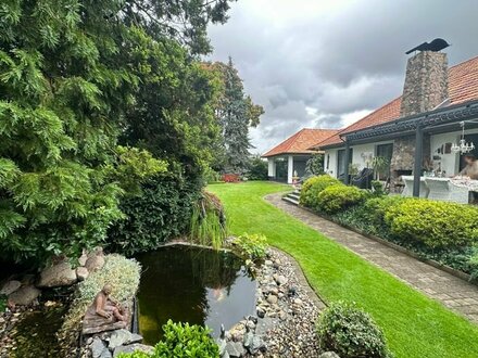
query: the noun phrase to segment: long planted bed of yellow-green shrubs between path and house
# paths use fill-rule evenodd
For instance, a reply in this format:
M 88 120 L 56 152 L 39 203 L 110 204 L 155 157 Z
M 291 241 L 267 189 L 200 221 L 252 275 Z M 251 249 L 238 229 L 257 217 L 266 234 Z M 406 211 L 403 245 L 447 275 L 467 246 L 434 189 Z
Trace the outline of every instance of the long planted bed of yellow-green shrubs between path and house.
M 317 182 L 317 179 L 315 179 Z M 301 204 L 334 221 L 398 244 L 422 258 L 478 277 L 478 208 L 426 199 L 376 193 L 319 180 L 305 186 Z M 311 197 L 311 192 L 314 196 Z M 350 192 L 350 193 L 349 193 Z M 349 193 L 344 195 L 344 193 Z M 344 200 L 347 199 L 347 200 Z M 353 200 L 352 200 L 353 199 Z M 334 207 L 332 210 L 328 209 Z

